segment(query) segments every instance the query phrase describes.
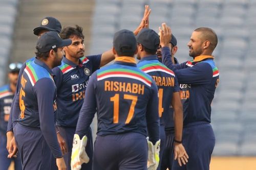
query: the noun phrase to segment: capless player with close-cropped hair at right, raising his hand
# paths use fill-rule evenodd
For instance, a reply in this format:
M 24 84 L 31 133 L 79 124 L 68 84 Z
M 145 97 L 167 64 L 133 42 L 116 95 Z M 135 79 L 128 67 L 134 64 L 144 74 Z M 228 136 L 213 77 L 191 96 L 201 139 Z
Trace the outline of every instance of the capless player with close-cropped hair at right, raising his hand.
M 210 28 L 196 29 L 187 44 L 189 56 L 194 59 L 193 66 L 186 65 L 187 62 L 174 65 L 167 46 L 172 31 L 165 23 L 159 30 L 163 63 L 175 72 L 179 83 L 189 85 L 189 98 L 183 104 L 186 117 L 182 141 L 189 162 L 183 167 L 174 162 L 173 169 L 207 170 L 215 146 L 215 135 L 210 125 L 210 104 L 219 83 L 219 70 L 212 56 L 218 43 L 217 35 Z

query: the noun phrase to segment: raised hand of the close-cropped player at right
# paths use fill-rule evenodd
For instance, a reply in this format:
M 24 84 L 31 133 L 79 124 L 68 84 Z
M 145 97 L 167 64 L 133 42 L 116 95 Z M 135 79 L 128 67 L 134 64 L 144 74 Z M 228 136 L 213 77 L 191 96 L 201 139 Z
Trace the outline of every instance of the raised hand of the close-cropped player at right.
M 160 36 L 160 45 L 162 47 L 168 46 L 170 40 L 172 40 L 172 30 L 170 27 L 166 25 L 166 23 L 162 23 L 162 28 L 159 27 L 159 36 Z

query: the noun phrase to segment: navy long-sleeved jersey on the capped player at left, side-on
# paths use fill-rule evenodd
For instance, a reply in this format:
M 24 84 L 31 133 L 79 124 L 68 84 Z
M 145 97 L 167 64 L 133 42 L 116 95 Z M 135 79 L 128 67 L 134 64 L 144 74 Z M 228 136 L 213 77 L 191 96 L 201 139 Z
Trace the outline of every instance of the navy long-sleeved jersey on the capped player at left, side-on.
M 62 157 L 54 125 L 53 103 L 56 86 L 52 70 L 34 58 L 26 67 L 18 82 L 20 89 L 14 105 L 19 104 L 17 122 L 25 127 L 40 130 L 55 158 Z M 29 136 L 25 136 L 29 137 Z

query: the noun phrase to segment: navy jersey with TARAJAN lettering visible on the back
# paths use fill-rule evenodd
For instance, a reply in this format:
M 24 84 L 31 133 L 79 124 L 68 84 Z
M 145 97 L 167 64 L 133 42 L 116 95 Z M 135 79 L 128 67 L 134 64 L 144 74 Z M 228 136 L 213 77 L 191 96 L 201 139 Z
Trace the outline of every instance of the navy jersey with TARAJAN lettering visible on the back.
M 139 61 L 138 67 L 150 75 L 158 87 L 160 124 L 164 125 L 165 122 L 173 121 L 173 118 L 164 121 L 163 117 L 169 112 L 173 93 L 180 91 L 174 72 L 160 63 L 155 55 L 143 57 Z

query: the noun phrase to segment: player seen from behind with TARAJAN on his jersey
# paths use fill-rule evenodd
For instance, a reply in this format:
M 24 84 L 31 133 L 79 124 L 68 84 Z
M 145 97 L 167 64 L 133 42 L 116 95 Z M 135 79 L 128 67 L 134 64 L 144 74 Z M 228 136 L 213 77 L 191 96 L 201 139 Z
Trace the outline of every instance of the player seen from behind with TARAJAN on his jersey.
M 140 59 L 138 67 L 150 75 L 158 86 L 159 95 L 159 117 L 160 117 L 160 162 L 162 160 L 165 148 L 165 123 L 173 122 L 175 125 L 175 160 L 178 158 L 180 165 L 186 164 L 187 154 L 182 145 L 182 127 L 183 127 L 183 111 L 180 100 L 180 89 L 177 78 L 172 70 L 158 61 L 156 56 L 159 47 L 159 36 L 151 29 L 143 29 L 137 36 L 138 53 L 137 58 Z M 175 114 L 173 117 L 166 116 L 169 114 L 169 107 L 172 104 Z M 165 120 L 163 119 L 165 115 Z M 167 119 L 169 118 L 169 119 Z M 182 163 L 181 163 L 182 162 Z M 160 169 L 160 165 L 157 169 Z

